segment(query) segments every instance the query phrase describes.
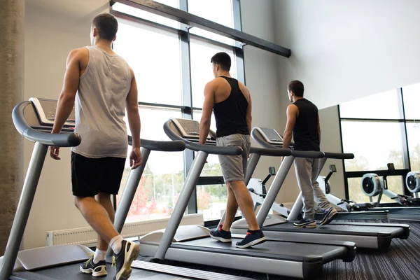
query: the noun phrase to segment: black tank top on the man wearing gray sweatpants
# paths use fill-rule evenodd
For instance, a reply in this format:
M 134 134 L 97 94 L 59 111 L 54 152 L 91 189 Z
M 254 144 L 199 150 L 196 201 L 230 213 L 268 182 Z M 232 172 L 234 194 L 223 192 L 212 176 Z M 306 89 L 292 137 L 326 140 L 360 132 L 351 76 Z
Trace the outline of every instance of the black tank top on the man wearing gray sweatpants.
M 307 99 L 297 99 L 293 104 L 299 109 L 293 127 L 293 148 L 296 151 L 319 151 L 318 108 Z

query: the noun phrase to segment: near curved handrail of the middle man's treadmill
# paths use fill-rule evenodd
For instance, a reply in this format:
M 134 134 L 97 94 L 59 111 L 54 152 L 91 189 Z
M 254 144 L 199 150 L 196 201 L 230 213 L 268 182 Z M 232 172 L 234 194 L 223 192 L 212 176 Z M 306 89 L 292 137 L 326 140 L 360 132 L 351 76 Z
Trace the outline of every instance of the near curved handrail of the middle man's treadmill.
M 191 151 L 200 152 L 203 151 L 205 153 L 214 154 L 214 155 L 241 155 L 242 148 L 240 147 L 221 147 L 221 146 L 209 146 L 209 145 L 202 145 L 193 143 L 188 141 L 188 139 L 183 139 L 178 134 L 176 134 L 171 128 L 169 127 L 169 123 L 172 120 L 167 120 L 163 125 L 163 130 L 171 140 L 178 140 L 183 141 L 186 144 L 186 148 Z

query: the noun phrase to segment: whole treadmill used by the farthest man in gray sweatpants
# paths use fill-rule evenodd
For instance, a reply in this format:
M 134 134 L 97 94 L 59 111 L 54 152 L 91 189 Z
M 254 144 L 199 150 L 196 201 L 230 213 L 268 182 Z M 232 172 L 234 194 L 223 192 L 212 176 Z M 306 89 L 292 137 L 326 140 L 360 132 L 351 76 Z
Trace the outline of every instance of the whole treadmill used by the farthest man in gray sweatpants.
M 279 134 L 269 128 L 255 127 L 251 135 L 255 141 L 265 148 L 281 148 L 282 139 Z M 307 157 L 305 153 L 310 153 L 311 158 L 323 158 L 322 152 L 302 152 L 292 151 L 292 155 L 284 158 L 281 162 L 279 172 L 274 177 L 271 187 L 267 192 L 264 202 L 257 214 L 257 221 L 260 228 L 265 233 L 265 237 L 270 240 L 281 240 L 284 238 L 295 239 L 296 241 L 352 241 L 359 248 L 386 248 L 391 245 L 393 238 L 407 239 L 409 237 L 409 225 L 388 224 L 388 223 L 349 223 L 333 221 L 329 225 L 318 226 L 315 229 L 293 228 L 295 214 L 290 213 L 288 219 L 277 216 L 276 219 L 267 218 L 276 195 L 286 179 L 286 175 L 296 157 Z M 315 154 L 318 154 L 316 157 Z M 256 166 L 256 163 L 254 164 Z M 250 166 L 250 165 L 248 165 Z M 252 167 L 252 165 L 251 165 Z M 255 168 L 255 167 L 254 167 Z M 250 172 L 252 172 L 250 170 Z M 297 206 L 298 213 L 302 207 Z M 293 212 L 293 209 L 292 209 Z M 297 210 L 295 210 L 297 213 Z M 293 214 L 293 217 L 292 217 Z M 246 221 L 241 219 L 232 224 L 231 231 L 237 234 L 244 234 L 247 226 Z

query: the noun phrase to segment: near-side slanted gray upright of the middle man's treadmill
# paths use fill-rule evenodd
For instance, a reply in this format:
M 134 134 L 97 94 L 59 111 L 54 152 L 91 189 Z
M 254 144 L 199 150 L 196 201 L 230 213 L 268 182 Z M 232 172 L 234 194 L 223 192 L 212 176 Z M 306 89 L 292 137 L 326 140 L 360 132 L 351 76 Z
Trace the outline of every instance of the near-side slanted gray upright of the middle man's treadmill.
M 190 172 L 188 172 L 184 186 L 181 190 L 181 193 L 179 194 L 179 200 L 176 202 L 165 233 L 159 242 L 158 250 L 155 253 L 155 258 L 165 258 L 168 248 L 171 246 L 172 240 L 174 239 L 176 229 L 178 229 L 182 216 L 186 212 L 190 197 L 193 195 L 193 191 L 197 185 L 200 173 L 204 167 L 204 163 L 206 162 L 207 155 L 209 154 L 203 151 L 200 151 L 196 154 L 193 165 L 191 165 Z

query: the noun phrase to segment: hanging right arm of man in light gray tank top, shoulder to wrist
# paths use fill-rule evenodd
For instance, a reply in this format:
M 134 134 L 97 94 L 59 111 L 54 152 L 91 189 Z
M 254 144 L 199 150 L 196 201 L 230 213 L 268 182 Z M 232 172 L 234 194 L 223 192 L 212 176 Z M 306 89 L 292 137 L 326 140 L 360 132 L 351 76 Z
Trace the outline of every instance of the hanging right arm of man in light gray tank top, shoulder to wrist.
M 130 73 L 132 75 L 130 92 L 128 92 L 127 99 L 125 100 L 125 108 L 127 109 L 127 119 L 128 125 L 130 126 L 130 131 L 132 133 L 132 147 L 140 148 L 140 114 L 139 114 L 139 102 L 137 94 L 137 82 L 136 77 L 134 76 L 134 71 L 130 68 Z

